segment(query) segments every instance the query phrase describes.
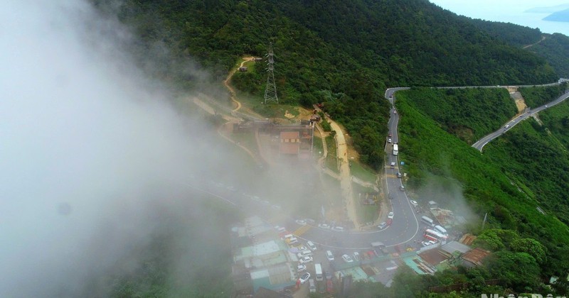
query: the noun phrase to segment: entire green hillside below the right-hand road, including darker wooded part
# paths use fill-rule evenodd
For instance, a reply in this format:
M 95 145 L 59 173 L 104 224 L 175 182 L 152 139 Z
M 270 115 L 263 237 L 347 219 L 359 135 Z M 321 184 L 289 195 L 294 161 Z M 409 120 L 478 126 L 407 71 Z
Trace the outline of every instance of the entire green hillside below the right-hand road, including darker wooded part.
M 441 187 L 445 191 L 439 194 L 446 198 L 446 202 L 443 201 L 446 206 L 457 205 L 456 201 L 464 197 L 475 214 L 488 213 L 489 226 L 486 227 L 504 229 L 506 231 L 500 233 L 531 238 L 543 245 L 540 249 L 546 257 L 538 263 L 533 263 L 537 257 L 529 261 L 531 266 L 536 266 L 531 278 L 514 280 L 513 275 L 504 275 L 504 267 L 496 269 L 496 266 L 506 259 L 511 262 L 522 258 L 511 255 L 517 248 L 504 244 L 508 242 L 507 237 L 490 236 L 489 233 L 494 232 L 483 231 L 478 244 L 499 253 L 489 263 L 490 274 L 486 278 L 500 278 L 501 285 L 523 291 L 524 288 L 537 289 L 541 278 L 566 275 L 569 271 L 566 258 L 569 229 L 565 225 L 569 204 L 564 199 L 569 170 L 566 147 L 560 146 L 560 141 L 551 140 L 553 137 L 547 136 L 543 128 L 537 131 L 535 123 L 526 121 L 520 128 L 516 126 L 506 133 L 505 138 L 486 145 L 481 155 L 420 111 L 416 105 L 418 100 L 412 98 L 414 95 L 413 90 L 397 95 L 402 117 L 400 159 L 405 161 L 403 171 L 409 175 L 408 186 L 412 192 L 418 199 L 425 200 L 429 196 L 425 189 L 432 187 L 433 182 L 447 185 Z M 565 113 L 565 110 L 555 112 L 556 121 L 563 122 Z M 551 121 L 555 123 L 554 119 Z M 546 214 L 541 214 L 537 206 Z M 479 231 L 479 221 L 472 223 L 475 224 L 470 226 L 470 231 Z M 490 240 L 493 237 L 494 240 Z M 495 241 L 503 244 L 491 244 Z

